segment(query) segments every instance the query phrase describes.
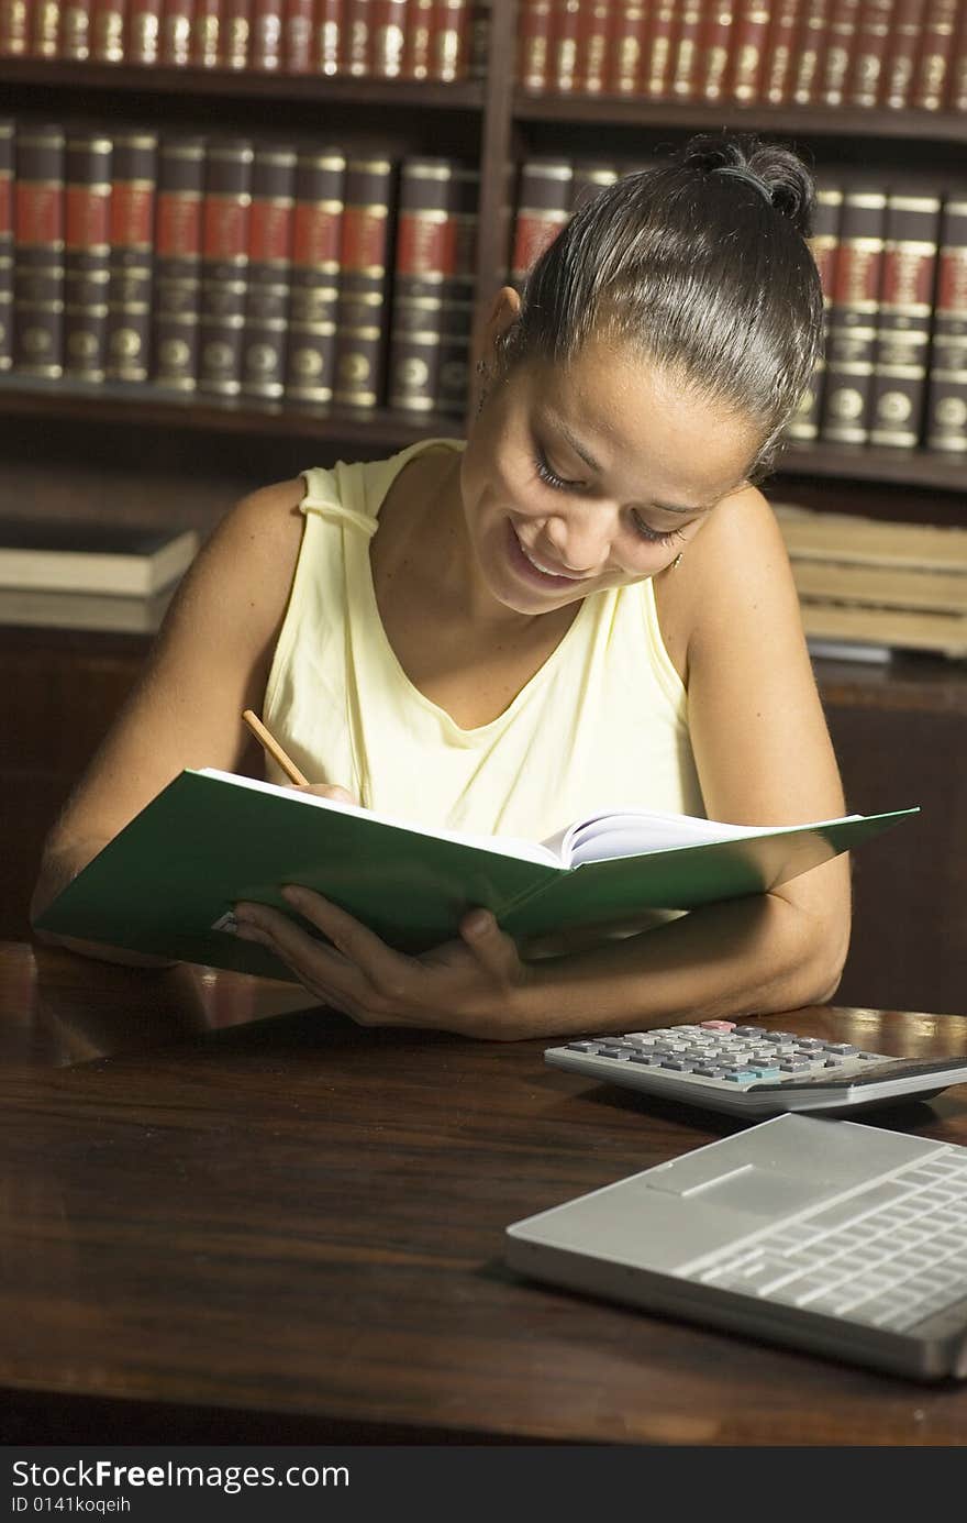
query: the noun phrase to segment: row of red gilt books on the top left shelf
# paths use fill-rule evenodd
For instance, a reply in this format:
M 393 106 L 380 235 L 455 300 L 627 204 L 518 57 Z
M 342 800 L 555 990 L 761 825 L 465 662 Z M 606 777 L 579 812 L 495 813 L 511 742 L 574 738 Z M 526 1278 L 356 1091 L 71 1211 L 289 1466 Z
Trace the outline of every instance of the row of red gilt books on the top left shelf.
M 0 0 L 0 58 L 464 79 L 481 0 Z

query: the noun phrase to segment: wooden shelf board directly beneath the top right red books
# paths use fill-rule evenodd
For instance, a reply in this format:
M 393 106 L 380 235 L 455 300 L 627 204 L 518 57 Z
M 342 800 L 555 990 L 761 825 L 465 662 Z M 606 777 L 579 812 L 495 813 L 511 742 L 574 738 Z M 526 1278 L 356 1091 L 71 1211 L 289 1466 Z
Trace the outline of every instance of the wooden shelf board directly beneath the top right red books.
M 967 111 L 880 111 L 860 107 L 771 107 L 737 101 L 650 101 L 641 96 L 535 94 L 516 90 L 513 114 L 521 122 L 580 122 L 662 128 L 748 128 L 803 137 L 902 137 L 967 143 Z

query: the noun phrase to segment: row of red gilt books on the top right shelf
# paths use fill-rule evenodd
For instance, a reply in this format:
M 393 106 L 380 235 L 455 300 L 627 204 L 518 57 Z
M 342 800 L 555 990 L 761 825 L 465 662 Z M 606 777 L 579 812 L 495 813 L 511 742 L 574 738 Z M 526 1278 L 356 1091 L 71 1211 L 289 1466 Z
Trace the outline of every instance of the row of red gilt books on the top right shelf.
M 527 90 L 967 110 L 961 0 L 521 0 Z

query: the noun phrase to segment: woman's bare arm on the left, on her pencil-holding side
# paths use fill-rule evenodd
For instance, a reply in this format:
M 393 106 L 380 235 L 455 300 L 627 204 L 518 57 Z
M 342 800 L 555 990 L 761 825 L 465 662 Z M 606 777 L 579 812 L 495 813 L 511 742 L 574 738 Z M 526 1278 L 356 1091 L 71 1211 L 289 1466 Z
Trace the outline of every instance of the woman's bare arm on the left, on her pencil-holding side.
M 239 765 L 250 739 L 241 713 L 262 708 L 292 583 L 302 496 L 298 480 L 254 492 L 198 554 L 134 691 L 50 830 L 30 918 L 183 768 Z

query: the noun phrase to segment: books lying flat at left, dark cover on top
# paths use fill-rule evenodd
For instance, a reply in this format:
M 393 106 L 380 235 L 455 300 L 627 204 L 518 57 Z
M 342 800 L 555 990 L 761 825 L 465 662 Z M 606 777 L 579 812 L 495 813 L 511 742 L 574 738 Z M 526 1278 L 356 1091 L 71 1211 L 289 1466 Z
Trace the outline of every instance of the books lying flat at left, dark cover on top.
M 0 623 L 154 634 L 195 559 L 193 528 L 0 521 Z

